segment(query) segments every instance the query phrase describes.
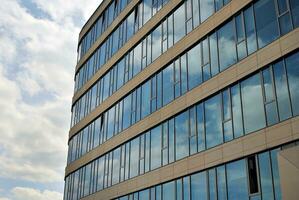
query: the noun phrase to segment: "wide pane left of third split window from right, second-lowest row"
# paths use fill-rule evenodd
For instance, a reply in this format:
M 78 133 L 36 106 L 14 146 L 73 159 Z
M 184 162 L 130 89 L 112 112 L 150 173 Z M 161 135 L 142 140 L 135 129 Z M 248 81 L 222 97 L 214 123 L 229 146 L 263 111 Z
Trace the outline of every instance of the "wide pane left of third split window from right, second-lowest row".
M 176 160 L 189 155 L 189 125 L 188 111 L 175 117 L 175 149 Z

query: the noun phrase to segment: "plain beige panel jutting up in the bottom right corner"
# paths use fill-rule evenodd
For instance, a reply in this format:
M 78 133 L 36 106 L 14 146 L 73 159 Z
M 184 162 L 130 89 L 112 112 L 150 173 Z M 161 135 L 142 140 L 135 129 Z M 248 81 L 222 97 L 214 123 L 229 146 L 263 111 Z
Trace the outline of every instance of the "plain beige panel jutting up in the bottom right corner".
M 299 146 L 282 150 L 278 153 L 278 168 L 282 199 L 299 198 Z

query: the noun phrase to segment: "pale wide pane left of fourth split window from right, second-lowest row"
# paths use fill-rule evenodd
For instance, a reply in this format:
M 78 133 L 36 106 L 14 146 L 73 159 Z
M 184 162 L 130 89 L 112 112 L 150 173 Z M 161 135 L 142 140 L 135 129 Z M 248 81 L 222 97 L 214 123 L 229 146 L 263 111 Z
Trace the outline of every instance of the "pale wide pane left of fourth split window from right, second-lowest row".
M 161 166 L 161 126 L 151 130 L 151 170 Z

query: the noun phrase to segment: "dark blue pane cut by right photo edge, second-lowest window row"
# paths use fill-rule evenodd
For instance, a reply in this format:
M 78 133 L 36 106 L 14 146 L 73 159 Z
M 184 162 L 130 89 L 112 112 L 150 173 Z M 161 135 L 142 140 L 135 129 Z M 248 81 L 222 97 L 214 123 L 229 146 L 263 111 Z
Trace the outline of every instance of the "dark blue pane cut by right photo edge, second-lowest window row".
M 293 114 L 299 114 L 299 53 L 286 59 Z

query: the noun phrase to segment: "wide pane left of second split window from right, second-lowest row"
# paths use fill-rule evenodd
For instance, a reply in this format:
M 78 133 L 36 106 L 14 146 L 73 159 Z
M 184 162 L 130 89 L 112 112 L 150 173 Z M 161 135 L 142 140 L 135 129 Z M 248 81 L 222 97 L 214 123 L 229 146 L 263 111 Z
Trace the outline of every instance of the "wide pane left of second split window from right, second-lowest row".
M 208 99 L 204 105 L 207 148 L 211 148 L 223 142 L 221 96 Z

